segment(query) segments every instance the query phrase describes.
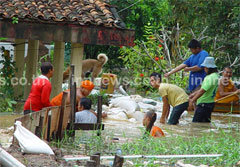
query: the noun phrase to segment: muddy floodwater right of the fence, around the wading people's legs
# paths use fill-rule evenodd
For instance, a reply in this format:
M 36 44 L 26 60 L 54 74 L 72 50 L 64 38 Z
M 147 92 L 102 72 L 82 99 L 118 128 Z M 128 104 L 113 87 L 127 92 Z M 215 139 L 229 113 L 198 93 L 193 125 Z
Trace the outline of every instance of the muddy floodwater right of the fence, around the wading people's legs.
M 193 113 L 179 120 L 178 125 L 160 124 L 159 119 L 155 126 L 160 127 L 166 137 L 172 136 L 201 136 L 206 133 L 220 133 L 219 129 L 225 132 L 239 133 L 240 114 L 213 113 L 211 123 L 192 123 Z M 132 123 L 129 121 L 104 120 L 105 130 L 113 131 L 115 137 L 138 138 L 143 134 L 142 122 Z M 234 134 L 233 134 L 234 135 Z

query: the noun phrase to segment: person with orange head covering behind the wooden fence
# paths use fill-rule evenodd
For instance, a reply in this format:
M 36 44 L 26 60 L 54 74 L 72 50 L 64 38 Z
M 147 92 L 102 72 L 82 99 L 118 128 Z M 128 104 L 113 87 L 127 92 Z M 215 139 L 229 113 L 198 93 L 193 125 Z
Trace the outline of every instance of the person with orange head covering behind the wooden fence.
M 81 82 L 81 86 L 76 89 L 76 104 L 79 103 L 80 99 L 87 97 L 94 88 L 93 82 L 85 80 Z M 65 90 L 67 92 L 66 105 L 70 104 L 70 89 Z M 53 97 L 51 100 L 52 106 L 61 106 L 63 92 L 59 93 L 57 96 Z

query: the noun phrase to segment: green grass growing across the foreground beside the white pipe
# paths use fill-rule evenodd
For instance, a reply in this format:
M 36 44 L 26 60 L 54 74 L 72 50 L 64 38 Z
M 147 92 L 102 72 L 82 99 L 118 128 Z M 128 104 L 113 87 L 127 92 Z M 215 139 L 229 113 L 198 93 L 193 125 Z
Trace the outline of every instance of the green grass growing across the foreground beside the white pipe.
M 189 158 L 184 163 L 193 165 L 209 166 L 234 166 L 240 160 L 240 134 L 226 133 L 219 130 L 219 134 L 210 132 L 201 137 L 163 137 L 163 138 L 140 138 L 131 142 L 112 142 L 113 133 L 103 132 L 102 136 L 96 136 L 96 132 L 79 132 L 73 141 L 67 136 L 58 143 L 67 154 L 92 155 L 101 152 L 101 155 L 114 155 L 120 148 L 122 155 L 180 155 L 180 154 L 223 154 L 218 158 Z M 54 143 L 53 143 L 54 144 Z M 56 143 L 55 143 L 56 144 Z M 56 146 L 56 145 L 55 145 Z M 75 150 L 75 153 L 73 152 Z M 154 161 L 159 159 L 134 159 L 134 166 L 159 166 Z M 179 159 L 160 159 L 173 166 Z M 146 163 L 146 162 L 145 162 Z

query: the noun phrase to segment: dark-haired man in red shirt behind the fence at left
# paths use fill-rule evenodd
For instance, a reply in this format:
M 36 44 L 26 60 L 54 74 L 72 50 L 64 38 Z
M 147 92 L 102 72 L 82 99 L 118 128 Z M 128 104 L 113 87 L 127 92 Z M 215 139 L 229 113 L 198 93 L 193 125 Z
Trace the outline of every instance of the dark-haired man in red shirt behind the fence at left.
M 24 115 L 51 106 L 49 98 L 52 85 L 49 79 L 53 76 L 52 64 L 43 62 L 41 73 L 42 75 L 37 77 L 32 83 L 30 94 L 24 104 Z

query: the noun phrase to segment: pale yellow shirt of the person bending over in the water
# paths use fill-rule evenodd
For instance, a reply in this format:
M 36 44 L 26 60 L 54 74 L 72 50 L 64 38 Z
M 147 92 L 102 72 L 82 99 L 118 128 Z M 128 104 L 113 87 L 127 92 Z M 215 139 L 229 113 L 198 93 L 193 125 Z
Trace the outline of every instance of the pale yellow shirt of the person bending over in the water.
M 173 107 L 188 102 L 187 93 L 176 85 L 161 83 L 158 90 L 160 96 L 167 96 L 169 104 Z

